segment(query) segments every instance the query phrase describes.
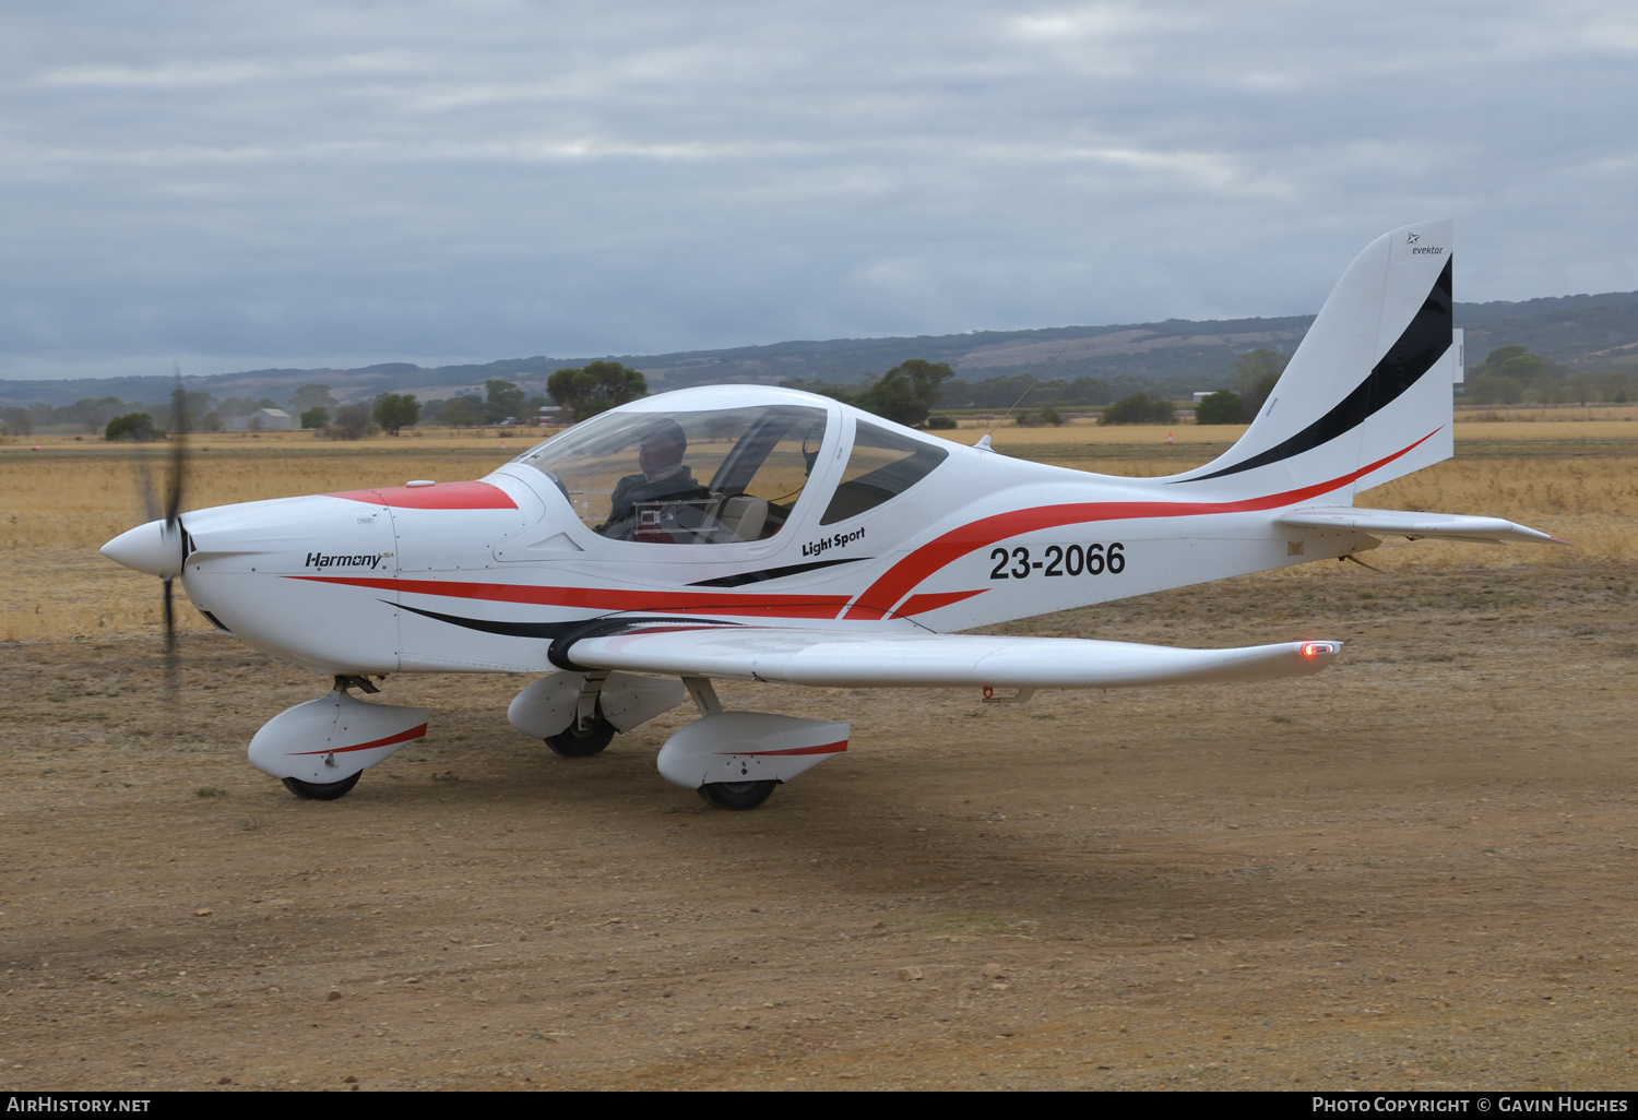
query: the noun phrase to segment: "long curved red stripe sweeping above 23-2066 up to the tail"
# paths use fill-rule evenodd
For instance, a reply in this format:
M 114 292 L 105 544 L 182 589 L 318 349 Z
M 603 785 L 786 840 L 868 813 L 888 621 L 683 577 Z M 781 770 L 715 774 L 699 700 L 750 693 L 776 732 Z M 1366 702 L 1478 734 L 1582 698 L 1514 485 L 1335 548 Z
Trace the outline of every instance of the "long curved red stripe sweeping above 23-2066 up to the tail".
M 1443 426 L 1441 426 L 1443 427 Z M 983 549 L 996 540 L 1006 540 L 1024 532 L 1038 529 L 1057 529 L 1089 521 L 1135 521 L 1142 517 L 1192 517 L 1197 514 L 1250 513 L 1256 509 L 1278 509 L 1299 501 L 1317 498 L 1319 495 L 1346 486 L 1356 478 L 1369 475 L 1400 455 L 1405 455 L 1438 434 L 1438 427 L 1419 439 L 1410 447 L 1397 450 L 1386 458 L 1379 458 L 1369 467 L 1361 467 L 1351 473 L 1332 478 L 1330 481 L 1301 486 L 1266 498 L 1245 498 L 1242 501 L 1084 501 L 1066 506 L 1037 506 L 1035 509 L 1012 509 L 993 517 L 980 517 L 950 532 L 929 540 L 916 552 L 909 553 L 886 570 L 858 601 L 850 606 L 842 617 L 880 619 L 891 612 L 906 594 L 916 589 L 922 580 L 939 571 L 948 563 L 965 557 L 975 549 Z

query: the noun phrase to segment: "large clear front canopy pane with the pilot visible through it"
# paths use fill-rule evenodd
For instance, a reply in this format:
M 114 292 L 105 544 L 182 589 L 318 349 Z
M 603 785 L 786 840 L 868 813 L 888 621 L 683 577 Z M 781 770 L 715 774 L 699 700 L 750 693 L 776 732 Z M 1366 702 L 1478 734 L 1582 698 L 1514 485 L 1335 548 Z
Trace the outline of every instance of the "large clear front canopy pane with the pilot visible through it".
M 616 540 L 731 544 L 776 534 L 824 442 L 826 409 L 604 413 L 516 460 Z

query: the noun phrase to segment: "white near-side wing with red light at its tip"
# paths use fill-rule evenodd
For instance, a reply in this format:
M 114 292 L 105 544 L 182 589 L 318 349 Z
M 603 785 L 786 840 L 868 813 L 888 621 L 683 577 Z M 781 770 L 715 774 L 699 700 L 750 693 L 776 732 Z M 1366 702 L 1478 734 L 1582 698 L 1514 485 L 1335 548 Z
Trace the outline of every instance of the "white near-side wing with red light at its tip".
M 563 650 L 577 668 L 827 688 L 1129 688 L 1307 676 L 1340 642 L 1186 650 L 1086 639 L 632 624 Z M 562 662 L 559 662 L 562 665 Z

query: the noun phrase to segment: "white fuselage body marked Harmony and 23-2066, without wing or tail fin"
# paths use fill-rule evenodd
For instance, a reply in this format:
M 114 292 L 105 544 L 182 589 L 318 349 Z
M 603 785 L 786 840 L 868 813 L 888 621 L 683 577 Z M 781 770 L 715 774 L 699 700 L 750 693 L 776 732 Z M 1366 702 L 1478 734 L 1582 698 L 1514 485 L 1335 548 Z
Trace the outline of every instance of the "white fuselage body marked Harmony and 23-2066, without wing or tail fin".
M 801 493 L 763 539 L 611 539 L 531 452 L 482 481 L 188 513 L 182 583 L 223 629 L 319 671 L 534 673 L 552 668 L 557 637 L 609 616 L 952 632 L 1340 555 L 1356 542 L 1273 524 L 1273 511 L 1312 499 L 1312 486 L 1201 501 L 1166 480 L 1009 458 L 785 390 L 690 390 L 627 409 L 686 416 L 744 409 L 747 398 L 824 409 Z M 903 493 L 837 516 L 860 422 L 924 442 L 937 465 Z

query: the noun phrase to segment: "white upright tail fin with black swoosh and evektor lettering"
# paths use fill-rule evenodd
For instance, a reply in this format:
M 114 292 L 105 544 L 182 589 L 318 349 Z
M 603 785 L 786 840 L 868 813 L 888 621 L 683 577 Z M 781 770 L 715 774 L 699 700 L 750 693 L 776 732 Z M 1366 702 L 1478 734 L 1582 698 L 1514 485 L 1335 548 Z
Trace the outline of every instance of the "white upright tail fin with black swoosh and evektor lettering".
M 1240 442 L 1168 481 L 1225 495 L 1324 486 L 1315 496 L 1351 503 L 1450 458 L 1451 327 L 1451 223 L 1378 237 L 1348 265 Z

